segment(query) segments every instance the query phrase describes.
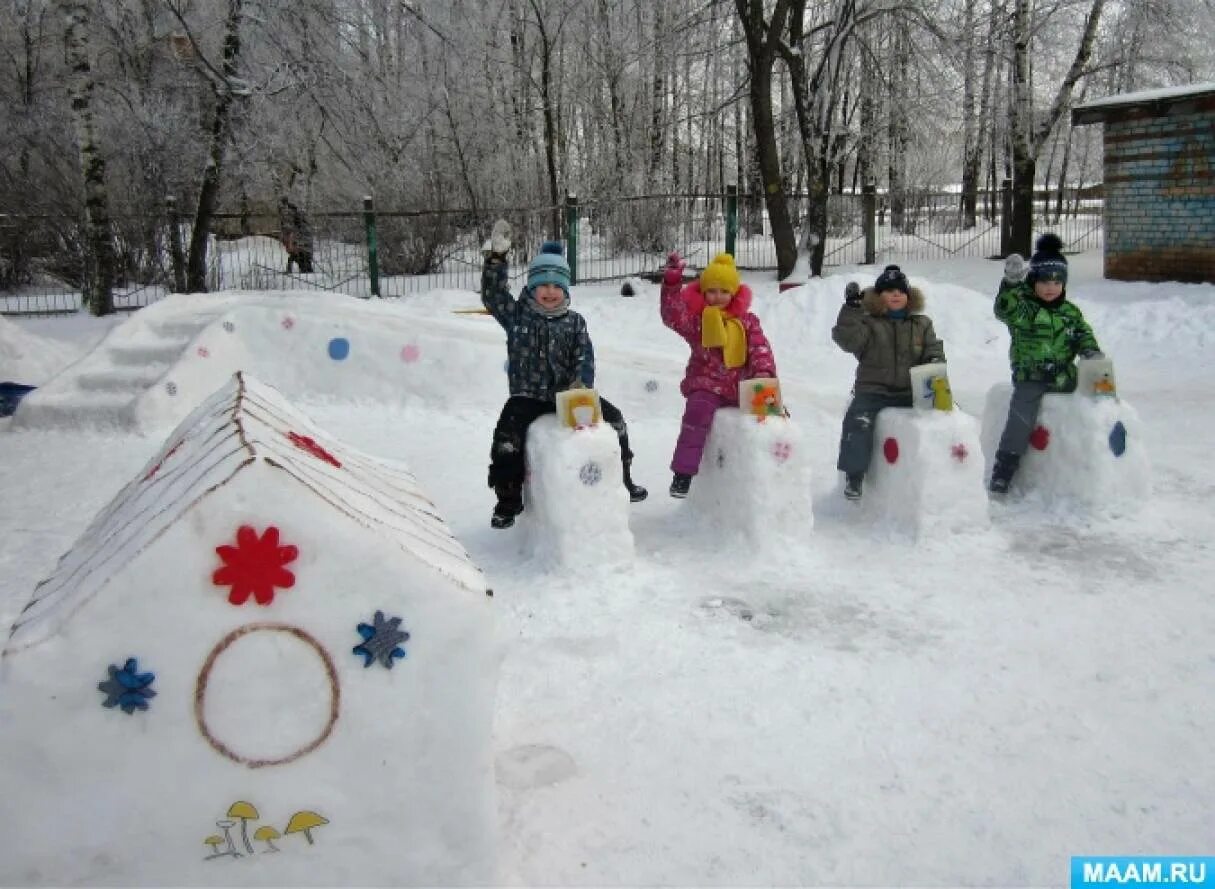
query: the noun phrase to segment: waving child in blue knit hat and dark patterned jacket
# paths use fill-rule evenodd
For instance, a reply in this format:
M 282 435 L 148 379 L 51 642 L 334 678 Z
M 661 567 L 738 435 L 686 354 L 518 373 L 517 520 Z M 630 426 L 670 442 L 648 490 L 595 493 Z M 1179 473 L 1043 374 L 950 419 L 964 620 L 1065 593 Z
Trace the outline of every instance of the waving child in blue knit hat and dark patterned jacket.
M 490 451 L 490 487 L 498 497 L 490 523 L 509 528 L 524 511 L 527 427 L 556 413 L 556 393 L 595 385 L 595 355 L 586 319 L 570 310 L 570 264 L 561 245 L 547 242 L 527 266 L 527 284 L 516 300 L 508 284 L 510 226 L 498 220 L 482 249 L 481 302 L 507 332 L 510 397 L 502 407 Z M 604 419 L 620 437 L 625 487 L 633 503 L 648 492 L 633 483 L 633 452 L 620 408 L 599 398 Z

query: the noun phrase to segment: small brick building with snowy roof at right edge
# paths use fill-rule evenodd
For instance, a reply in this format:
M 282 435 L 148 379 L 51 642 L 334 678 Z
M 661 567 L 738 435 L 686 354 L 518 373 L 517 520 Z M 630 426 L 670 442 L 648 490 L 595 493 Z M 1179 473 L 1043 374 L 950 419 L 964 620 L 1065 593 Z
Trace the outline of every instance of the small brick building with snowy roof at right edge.
M 1215 83 L 1087 102 L 1104 124 L 1106 277 L 1215 282 Z

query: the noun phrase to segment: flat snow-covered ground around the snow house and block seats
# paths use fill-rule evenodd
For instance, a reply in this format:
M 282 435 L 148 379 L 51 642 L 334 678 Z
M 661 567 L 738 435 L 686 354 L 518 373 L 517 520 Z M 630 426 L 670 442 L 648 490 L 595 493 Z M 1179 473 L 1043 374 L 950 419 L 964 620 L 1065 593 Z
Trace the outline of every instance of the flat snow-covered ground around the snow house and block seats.
M 1151 502 L 1124 516 L 1011 503 L 990 530 L 917 542 L 859 525 L 833 471 L 854 364 L 829 330 L 846 281 L 874 268 L 784 295 L 751 279 L 814 451 L 815 531 L 778 561 L 757 564 L 728 521 L 684 533 L 685 504 L 666 497 L 679 415 L 632 391 L 604 393 L 629 419 L 651 491 L 633 508 L 638 560 L 578 576 L 539 572 L 515 532 L 488 527 L 490 409 L 300 406 L 349 444 L 405 460 L 490 577 L 508 640 L 501 883 L 1058 885 L 1072 855 L 1209 850 L 1215 397 L 1202 381 L 1215 287 L 1104 282 L 1100 261 L 1073 259 L 1069 293 L 1117 362 L 1153 465 Z M 990 316 L 999 265 L 905 268 L 959 403 L 981 413 L 1007 375 Z M 576 288 L 605 373 L 678 381 L 685 346 L 656 299 Z M 473 305 L 442 291 L 400 311 L 450 319 Z M 12 323 L 79 350 L 111 322 Z M 476 385 L 505 395 L 502 378 Z M 9 425 L 5 624 L 162 444 Z

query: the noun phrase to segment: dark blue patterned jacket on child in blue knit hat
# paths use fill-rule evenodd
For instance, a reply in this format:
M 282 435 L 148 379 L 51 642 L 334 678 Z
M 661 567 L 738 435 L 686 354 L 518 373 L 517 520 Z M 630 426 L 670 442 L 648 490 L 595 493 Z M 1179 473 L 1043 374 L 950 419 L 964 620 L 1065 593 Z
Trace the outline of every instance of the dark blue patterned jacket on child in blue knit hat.
M 595 385 L 595 353 L 587 322 L 577 312 L 543 315 L 525 287 L 510 295 L 507 264 L 486 261 L 481 268 L 481 304 L 507 332 L 507 376 L 510 395 L 555 401 L 575 381 Z

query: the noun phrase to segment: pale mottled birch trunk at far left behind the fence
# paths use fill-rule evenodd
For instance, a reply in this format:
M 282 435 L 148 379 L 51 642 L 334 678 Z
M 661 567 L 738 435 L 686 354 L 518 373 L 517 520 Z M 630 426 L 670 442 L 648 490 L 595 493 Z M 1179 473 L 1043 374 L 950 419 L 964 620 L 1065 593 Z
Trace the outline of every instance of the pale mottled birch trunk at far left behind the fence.
M 109 232 L 109 193 L 106 159 L 101 153 L 92 94 L 96 83 L 89 63 L 89 0 L 62 0 L 67 19 L 66 51 L 72 67 L 69 96 L 84 175 L 84 209 L 89 261 L 81 284 L 84 301 L 94 315 L 114 311 L 114 242 Z

